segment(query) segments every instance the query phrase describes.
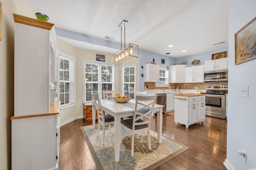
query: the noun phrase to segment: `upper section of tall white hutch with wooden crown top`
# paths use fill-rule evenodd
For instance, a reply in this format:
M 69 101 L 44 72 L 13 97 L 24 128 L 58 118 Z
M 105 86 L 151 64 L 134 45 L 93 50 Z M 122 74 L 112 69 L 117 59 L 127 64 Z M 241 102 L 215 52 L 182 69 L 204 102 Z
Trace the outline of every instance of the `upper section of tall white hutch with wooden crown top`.
M 50 113 L 57 100 L 58 46 L 53 23 L 13 14 L 14 116 Z

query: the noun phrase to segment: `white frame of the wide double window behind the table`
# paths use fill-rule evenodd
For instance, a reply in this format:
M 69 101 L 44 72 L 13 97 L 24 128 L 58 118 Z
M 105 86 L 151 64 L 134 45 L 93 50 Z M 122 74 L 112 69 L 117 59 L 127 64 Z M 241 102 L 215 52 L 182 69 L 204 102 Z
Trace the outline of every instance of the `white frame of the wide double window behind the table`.
M 100 67 L 102 65 L 107 65 L 107 66 L 112 66 L 112 90 L 115 90 L 115 66 L 113 66 L 111 63 L 107 63 L 107 62 L 102 62 L 102 61 L 92 61 L 92 60 L 86 60 L 84 59 L 83 60 L 83 102 L 86 103 L 86 102 L 92 102 L 92 100 L 90 101 L 86 101 L 86 87 L 85 87 L 85 63 L 89 63 L 89 64 L 97 64 L 97 65 L 100 65 Z M 100 76 L 99 76 L 100 74 Z M 102 82 L 100 81 L 100 78 L 101 78 L 101 68 L 100 70 L 98 70 L 98 94 L 99 96 L 102 98 Z M 100 84 L 100 85 L 99 85 Z

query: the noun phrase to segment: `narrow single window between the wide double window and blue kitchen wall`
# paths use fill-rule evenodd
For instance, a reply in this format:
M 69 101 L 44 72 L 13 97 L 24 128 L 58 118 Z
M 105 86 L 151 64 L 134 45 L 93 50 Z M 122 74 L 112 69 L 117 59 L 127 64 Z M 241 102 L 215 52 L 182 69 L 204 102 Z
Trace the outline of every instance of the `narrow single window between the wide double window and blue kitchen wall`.
M 122 90 L 123 94 L 134 99 L 135 93 L 135 66 L 122 66 Z

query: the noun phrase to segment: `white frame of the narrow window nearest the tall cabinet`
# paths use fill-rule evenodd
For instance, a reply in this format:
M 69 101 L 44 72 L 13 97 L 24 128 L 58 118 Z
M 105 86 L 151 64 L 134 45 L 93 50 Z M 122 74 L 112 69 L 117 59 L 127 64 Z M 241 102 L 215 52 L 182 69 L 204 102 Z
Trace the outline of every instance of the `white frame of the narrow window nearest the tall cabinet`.
M 60 83 L 62 80 L 60 80 L 60 59 L 61 58 L 64 58 L 64 59 L 68 59 L 69 61 L 72 61 L 74 62 L 73 64 L 73 81 L 70 82 L 70 103 L 68 104 L 62 104 L 60 105 L 60 109 L 66 109 L 66 108 L 69 108 L 69 107 L 73 107 L 73 106 L 76 106 L 76 58 L 75 57 L 72 57 L 72 56 L 69 56 L 69 55 L 66 55 L 64 53 L 60 53 L 59 55 L 59 59 L 58 59 L 58 80 L 59 80 L 59 83 L 58 83 L 58 101 L 60 101 Z

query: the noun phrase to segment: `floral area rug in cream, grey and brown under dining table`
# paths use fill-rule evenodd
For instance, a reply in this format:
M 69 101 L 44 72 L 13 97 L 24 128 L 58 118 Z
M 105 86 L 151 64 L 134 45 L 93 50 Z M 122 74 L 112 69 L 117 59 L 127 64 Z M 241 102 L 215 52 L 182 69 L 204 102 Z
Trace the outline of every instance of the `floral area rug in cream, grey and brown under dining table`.
M 150 131 L 151 150 L 148 150 L 147 132 L 140 133 L 138 139 L 134 137 L 134 157 L 131 157 L 132 138 L 128 131 L 124 130 L 124 139 L 120 144 L 120 160 L 115 161 L 114 153 L 114 127 L 108 131 L 106 126 L 105 145 L 102 145 L 102 126 L 97 137 L 98 125 L 81 127 L 85 141 L 90 149 L 98 170 L 152 170 L 178 154 L 184 152 L 188 147 L 181 145 L 162 136 L 162 143 L 157 142 L 157 133 Z

